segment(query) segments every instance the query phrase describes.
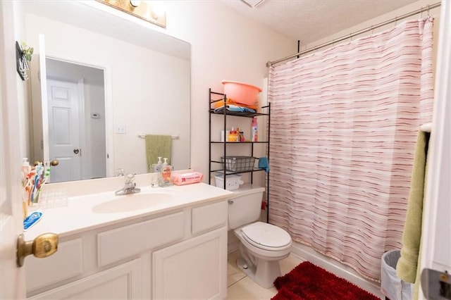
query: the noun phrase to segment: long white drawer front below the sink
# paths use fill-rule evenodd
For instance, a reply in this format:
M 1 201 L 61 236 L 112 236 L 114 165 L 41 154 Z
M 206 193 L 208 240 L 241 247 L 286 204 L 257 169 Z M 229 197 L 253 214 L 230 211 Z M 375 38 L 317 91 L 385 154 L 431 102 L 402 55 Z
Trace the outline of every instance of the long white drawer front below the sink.
M 147 249 L 183 239 L 184 213 L 101 232 L 97 235 L 99 267 L 139 254 Z

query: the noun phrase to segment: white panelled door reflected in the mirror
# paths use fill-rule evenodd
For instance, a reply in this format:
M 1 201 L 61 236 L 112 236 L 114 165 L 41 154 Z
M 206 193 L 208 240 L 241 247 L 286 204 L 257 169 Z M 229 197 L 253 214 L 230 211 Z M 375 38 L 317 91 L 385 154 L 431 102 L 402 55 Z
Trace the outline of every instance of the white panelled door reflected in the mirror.
M 81 179 L 79 104 L 77 83 L 47 78 L 49 158 L 59 161 L 52 168 L 51 182 Z

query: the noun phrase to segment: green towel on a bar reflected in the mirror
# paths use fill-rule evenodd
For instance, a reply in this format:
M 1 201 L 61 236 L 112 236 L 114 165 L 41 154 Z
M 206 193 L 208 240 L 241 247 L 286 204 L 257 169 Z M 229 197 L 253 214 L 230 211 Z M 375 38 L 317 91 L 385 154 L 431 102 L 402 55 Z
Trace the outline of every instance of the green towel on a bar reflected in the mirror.
M 171 135 L 146 135 L 145 140 L 148 173 L 152 172 L 152 164 L 158 162 L 159 156 L 168 158 L 168 164 L 171 165 Z

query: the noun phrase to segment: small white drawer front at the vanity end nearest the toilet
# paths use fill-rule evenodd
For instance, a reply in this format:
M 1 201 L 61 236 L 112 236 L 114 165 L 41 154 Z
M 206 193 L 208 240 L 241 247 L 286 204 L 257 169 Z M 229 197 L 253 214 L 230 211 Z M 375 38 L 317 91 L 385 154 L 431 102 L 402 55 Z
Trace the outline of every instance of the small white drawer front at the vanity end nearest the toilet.
M 193 235 L 213 230 L 227 224 L 227 201 L 192 208 L 191 232 Z

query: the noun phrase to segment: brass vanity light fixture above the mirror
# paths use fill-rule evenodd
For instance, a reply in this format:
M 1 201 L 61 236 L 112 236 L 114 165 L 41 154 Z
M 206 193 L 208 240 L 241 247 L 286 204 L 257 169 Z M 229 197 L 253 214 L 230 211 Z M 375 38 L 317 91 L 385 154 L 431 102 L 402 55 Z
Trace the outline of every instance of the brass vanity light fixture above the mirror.
M 137 18 L 166 28 L 166 11 L 152 4 L 153 1 L 137 0 L 97 0 Z

